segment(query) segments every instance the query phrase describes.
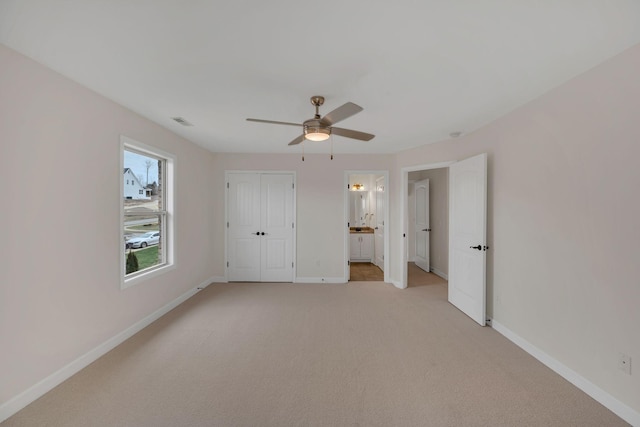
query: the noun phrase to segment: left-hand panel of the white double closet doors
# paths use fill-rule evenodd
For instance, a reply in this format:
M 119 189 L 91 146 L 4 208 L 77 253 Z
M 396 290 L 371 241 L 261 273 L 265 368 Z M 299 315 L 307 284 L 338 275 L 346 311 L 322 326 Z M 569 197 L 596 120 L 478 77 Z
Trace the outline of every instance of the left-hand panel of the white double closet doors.
M 260 281 L 260 175 L 229 174 L 228 257 L 230 281 Z

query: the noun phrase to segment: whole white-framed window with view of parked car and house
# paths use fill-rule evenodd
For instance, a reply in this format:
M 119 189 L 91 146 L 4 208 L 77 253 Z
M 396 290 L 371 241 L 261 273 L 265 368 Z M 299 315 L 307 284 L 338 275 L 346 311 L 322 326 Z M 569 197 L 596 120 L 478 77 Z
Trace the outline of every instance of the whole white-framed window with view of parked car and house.
M 162 150 L 121 137 L 122 287 L 153 277 L 174 265 L 173 167 L 175 158 Z M 131 186 L 129 186 L 131 182 Z

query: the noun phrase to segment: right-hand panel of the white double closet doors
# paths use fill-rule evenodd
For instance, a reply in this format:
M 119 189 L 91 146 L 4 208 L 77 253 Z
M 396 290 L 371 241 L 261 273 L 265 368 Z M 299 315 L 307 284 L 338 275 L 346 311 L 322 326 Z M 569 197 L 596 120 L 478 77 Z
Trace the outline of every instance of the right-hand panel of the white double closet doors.
M 261 187 L 260 280 L 292 282 L 293 176 L 262 175 Z

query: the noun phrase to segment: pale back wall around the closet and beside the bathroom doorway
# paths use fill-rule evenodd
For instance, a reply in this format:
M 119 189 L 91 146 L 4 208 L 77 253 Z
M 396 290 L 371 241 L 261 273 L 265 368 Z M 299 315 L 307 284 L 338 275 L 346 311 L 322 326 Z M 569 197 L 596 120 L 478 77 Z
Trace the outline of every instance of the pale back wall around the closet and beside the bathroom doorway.
M 215 186 L 211 188 L 224 205 L 225 170 L 287 170 L 296 172 L 297 232 L 296 277 L 344 278 L 345 254 L 345 171 L 388 170 L 389 155 L 305 154 L 218 154 L 214 161 Z M 224 206 L 223 206 L 224 208 Z M 218 208 L 219 209 L 219 208 Z M 223 267 L 224 210 L 216 228 L 214 259 Z

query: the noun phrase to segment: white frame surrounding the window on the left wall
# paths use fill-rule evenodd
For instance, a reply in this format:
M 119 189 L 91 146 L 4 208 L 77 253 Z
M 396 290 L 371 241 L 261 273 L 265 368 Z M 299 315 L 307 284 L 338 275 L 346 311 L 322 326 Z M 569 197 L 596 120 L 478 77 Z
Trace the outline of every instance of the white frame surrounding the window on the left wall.
M 162 247 L 165 251 L 165 262 L 150 267 L 140 273 L 126 275 L 126 249 L 122 231 L 124 230 L 124 176 L 120 174 L 120 289 L 126 289 L 138 283 L 157 277 L 176 267 L 175 256 L 175 169 L 176 156 L 159 148 L 135 141 L 124 135 L 120 136 L 120 170 L 124 170 L 124 152 L 132 151 L 142 155 L 149 155 L 164 160 L 165 170 L 162 171 L 162 200 L 164 202 L 165 228 L 162 236 Z

